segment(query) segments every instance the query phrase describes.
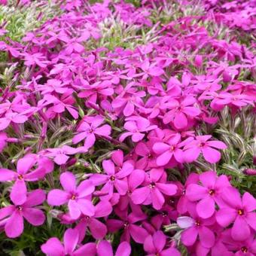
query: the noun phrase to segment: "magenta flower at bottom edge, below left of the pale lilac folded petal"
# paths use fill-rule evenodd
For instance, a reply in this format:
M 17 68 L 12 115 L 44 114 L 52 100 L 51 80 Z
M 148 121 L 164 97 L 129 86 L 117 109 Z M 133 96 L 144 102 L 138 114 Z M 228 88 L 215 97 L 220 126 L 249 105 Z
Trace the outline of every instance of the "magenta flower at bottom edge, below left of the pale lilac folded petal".
M 159 255 L 173 255 L 180 256 L 181 253 L 173 247 L 166 247 L 166 236 L 162 231 L 158 230 L 153 234 L 153 236 L 149 235 L 144 242 L 144 250 L 148 252 L 148 256 Z

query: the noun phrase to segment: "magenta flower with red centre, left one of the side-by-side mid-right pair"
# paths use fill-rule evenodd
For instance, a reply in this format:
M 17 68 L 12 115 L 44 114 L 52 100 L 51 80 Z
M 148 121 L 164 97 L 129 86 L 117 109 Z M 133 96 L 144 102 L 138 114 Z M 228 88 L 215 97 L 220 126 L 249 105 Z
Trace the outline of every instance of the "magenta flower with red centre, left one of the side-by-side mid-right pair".
M 176 133 L 166 143 L 157 142 L 154 144 L 153 151 L 158 155 L 157 166 L 165 166 L 173 158 L 178 163 L 184 162 L 183 151 L 181 150 L 183 144 L 179 142 L 181 142 L 181 135 Z

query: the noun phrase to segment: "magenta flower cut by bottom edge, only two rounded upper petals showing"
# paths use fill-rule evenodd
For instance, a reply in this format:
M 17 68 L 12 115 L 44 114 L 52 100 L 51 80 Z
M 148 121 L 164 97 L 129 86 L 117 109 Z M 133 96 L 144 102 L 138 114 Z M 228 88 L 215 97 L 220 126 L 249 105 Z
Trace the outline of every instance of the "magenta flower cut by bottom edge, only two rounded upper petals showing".
M 99 242 L 97 247 L 98 256 L 130 256 L 132 251 L 131 245 L 129 242 L 120 242 L 120 245 L 117 247 L 117 251 L 114 254 L 110 242 L 102 240 Z

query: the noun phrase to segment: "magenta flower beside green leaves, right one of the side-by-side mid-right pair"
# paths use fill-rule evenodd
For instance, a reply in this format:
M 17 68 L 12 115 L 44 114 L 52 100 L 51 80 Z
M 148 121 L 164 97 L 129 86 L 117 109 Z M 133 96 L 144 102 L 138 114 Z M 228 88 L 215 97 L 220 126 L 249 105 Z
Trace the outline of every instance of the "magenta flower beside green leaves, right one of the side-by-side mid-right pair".
M 202 152 L 203 157 L 209 163 L 217 163 L 221 159 L 221 153 L 218 149 L 225 149 L 227 146 L 220 141 L 209 141 L 212 136 L 196 136 L 192 142 L 188 142 L 184 146 L 184 159 L 186 162 L 191 163 L 197 160 L 200 153 Z

